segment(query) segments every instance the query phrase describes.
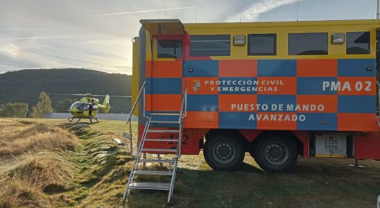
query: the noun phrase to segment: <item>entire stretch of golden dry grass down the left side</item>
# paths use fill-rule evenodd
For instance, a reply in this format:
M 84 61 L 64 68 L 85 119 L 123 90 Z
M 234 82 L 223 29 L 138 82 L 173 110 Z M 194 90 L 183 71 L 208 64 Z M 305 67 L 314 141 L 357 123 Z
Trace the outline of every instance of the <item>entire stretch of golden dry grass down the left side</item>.
M 0 207 L 55 207 L 50 195 L 74 188 L 74 168 L 62 153 L 78 144 L 62 128 L 1 120 Z

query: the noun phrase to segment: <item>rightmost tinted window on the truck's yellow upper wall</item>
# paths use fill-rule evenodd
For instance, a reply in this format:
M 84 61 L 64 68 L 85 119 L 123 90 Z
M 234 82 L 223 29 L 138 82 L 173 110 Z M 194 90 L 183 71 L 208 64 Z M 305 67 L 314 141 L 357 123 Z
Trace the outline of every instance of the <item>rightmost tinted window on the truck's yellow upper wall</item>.
M 370 32 L 347 33 L 347 54 L 370 54 Z

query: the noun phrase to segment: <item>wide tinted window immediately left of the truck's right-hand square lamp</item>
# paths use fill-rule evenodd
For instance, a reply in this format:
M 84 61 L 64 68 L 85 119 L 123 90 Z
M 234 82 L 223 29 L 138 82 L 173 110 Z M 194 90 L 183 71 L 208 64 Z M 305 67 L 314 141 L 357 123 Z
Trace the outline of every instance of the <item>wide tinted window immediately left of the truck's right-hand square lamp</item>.
M 289 55 L 327 55 L 327 33 L 289 33 Z

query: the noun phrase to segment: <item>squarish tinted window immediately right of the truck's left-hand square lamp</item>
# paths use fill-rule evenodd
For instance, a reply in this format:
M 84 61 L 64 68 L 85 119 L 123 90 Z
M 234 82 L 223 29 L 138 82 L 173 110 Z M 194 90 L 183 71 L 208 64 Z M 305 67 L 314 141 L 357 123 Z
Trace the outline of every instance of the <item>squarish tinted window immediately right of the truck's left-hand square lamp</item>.
M 276 34 L 248 35 L 248 55 L 276 55 Z

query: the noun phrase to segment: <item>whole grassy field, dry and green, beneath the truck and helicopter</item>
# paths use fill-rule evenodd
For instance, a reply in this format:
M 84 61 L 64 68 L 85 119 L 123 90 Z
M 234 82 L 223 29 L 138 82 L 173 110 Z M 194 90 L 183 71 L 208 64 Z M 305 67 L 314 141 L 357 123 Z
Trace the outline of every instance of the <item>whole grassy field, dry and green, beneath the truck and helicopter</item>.
M 126 128 L 0 119 L 0 207 L 167 207 L 166 191 L 132 190 L 121 200 L 132 157 L 112 138 Z M 380 162 L 353 162 L 300 157 L 292 173 L 268 174 L 248 154 L 234 172 L 212 171 L 202 153 L 182 155 L 173 207 L 376 207 Z

